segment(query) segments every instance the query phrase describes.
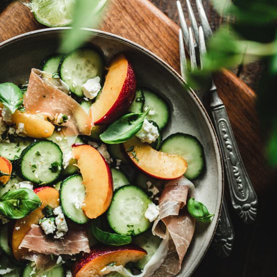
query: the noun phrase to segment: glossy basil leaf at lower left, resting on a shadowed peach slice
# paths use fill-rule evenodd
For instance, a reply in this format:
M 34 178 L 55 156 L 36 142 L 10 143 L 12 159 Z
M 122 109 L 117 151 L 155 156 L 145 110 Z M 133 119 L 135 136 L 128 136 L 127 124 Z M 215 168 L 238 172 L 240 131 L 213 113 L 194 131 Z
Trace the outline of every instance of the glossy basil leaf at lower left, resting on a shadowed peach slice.
M 39 197 L 29 188 L 7 191 L 0 197 L 0 213 L 9 219 L 21 219 L 41 204 Z

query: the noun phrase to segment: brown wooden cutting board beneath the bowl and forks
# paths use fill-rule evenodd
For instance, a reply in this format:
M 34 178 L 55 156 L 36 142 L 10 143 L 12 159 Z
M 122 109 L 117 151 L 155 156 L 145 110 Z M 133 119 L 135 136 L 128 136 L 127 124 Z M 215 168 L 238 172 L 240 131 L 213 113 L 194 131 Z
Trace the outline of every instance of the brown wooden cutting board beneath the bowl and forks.
M 173 0 L 170 0 L 173 1 Z M 0 4 L 0 41 L 42 29 L 20 2 Z M 146 47 L 179 72 L 179 27 L 147 0 L 110 0 L 101 30 Z M 20 51 L 20 49 L 19 49 Z M 226 105 L 235 137 L 253 186 L 261 197 L 274 174 L 263 156 L 262 132 L 255 112 L 255 93 L 229 71 L 216 75 L 219 95 Z

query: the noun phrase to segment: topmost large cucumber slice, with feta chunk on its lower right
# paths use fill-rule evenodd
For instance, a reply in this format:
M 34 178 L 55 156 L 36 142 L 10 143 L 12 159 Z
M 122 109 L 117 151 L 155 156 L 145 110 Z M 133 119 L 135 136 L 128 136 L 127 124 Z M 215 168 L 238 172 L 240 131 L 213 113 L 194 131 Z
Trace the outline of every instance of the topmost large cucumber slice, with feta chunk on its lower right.
M 94 49 L 82 48 L 66 55 L 59 65 L 59 75 L 77 96 L 84 96 L 82 85 L 103 75 L 102 56 Z

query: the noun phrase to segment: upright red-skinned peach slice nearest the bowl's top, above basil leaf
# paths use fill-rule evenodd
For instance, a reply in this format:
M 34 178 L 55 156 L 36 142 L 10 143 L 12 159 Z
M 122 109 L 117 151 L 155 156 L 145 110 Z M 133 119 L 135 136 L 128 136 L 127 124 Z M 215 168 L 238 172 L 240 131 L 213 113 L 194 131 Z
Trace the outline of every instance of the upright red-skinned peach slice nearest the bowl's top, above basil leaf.
M 103 90 L 91 106 L 90 116 L 94 123 L 109 124 L 122 116 L 134 99 L 135 86 L 132 65 L 124 55 L 115 56 L 108 66 Z

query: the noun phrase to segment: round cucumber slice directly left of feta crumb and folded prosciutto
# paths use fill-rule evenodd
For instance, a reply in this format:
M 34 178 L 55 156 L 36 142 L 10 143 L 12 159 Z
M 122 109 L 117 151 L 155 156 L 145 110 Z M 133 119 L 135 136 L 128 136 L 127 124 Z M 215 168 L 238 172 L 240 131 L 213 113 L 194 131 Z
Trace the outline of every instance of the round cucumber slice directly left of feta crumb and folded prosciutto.
M 121 193 L 123 193 L 123 196 L 120 195 Z M 143 205 L 142 207 L 143 210 L 141 211 L 143 214 L 140 215 L 140 219 L 138 220 L 138 223 L 137 222 L 134 223 L 131 221 L 128 223 L 124 222 L 123 215 L 122 215 L 122 213 L 136 213 L 138 211 L 137 209 L 140 208 L 140 206 L 136 205 L 137 203 L 134 202 L 134 204 L 132 203 L 129 204 L 128 209 L 124 209 L 123 207 L 124 211 L 118 210 L 119 207 L 117 202 L 120 201 L 120 198 L 118 197 L 126 198 L 124 193 L 129 194 L 130 196 L 128 197 L 133 197 L 137 195 L 137 197 L 140 199 L 139 200 L 140 204 Z M 140 187 L 133 186 L 133 185 L 126 185 L 126 186 L 120 187 L 113 195 L 112 202 L 107 212 L 107 220 L 110 227 L 113 229 L 115 233 L 119 235 L 135 236 L 145 232 L 151 227 L 150 221 L 147 220 L 144 216 L 148 208 L 148 204 L 151 202 L 152 201 L 150 200 L 146 192 L 144 192 Z M 130 218 L 133 218 L 132 215 L 130 216 Z

